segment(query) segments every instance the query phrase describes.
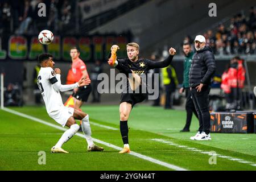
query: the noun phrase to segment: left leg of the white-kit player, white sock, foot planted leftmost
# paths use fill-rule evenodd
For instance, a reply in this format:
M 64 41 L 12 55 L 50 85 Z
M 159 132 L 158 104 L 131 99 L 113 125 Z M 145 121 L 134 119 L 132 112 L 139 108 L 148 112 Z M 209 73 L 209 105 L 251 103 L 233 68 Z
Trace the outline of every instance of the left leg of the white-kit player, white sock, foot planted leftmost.
M 68 121 L 66 123 L 66 126 L 69 127 L 68 130 L 66 130 L 59 141 L 51 148 L 52 153 L 68 153 L 67 151 L 63 150 L 61 148 L 65 142 L 68 142 L 69 139 L 73 137 L 79 130 L 79 125 L 77 125 L 75 119 L 73 117 L 68 118 Z

